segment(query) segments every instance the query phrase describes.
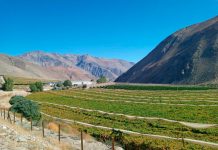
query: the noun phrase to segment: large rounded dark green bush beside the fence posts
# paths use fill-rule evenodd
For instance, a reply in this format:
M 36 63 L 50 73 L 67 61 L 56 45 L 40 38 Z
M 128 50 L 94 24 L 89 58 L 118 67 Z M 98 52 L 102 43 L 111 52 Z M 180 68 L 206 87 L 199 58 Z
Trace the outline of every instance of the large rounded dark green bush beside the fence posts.
M 37 103 L 21 96 L 13 97 L 13 100 L 11 99 L 10 101 L 14 102 L 10 108 L 12 112 L 22 114 L 27 120 L 39 121 L 41 119 Z

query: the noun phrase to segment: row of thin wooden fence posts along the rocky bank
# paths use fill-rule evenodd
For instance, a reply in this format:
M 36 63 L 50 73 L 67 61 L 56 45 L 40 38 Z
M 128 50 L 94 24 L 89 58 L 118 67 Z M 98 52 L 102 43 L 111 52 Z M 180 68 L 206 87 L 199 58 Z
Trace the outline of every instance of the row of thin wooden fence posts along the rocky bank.
M 4 119 L 4 120 L 8 120 L 11 124 L 14 124 L 14 125 L 16 125 L 15 123 L 16 122 L 18 122 L 18 120 L 19 120 L 19 122 L 20 122 L 20 125 L 21 126 L 23 126 L 24 125 L 24 117 L 23 117 L 23 115 L 22 114 L 18 114 L 18 113 L 15 113 L 15 112 L 11 112 L 8 108 L 1 108 L 0 107 L 0 115 L 1 115 L 1 117 Z M 28 120 L 27 120 L 28 121 Z M 42 137 L 43 138 L 45 138 L 46 137 L 46 134 L 45 134 L 45 122 L 47 122 L 47 121 L 45 121 L 45 120 L 42 120 L 41 121 L 41 134 L 42 134 Z M 47 122 L 48 123 L 48 122 Z M 53 123 L 53 122 L 51 122 L 51 123 Z M 30 126 L 30 131 L 33 131 L 34 130 L 34 128 L 33 128 L 33 120 L 32 119 L 30 119 L 29 121 L 28 121 L 28 124 L 29 124 L 29 126 Z M 39 127 L 39 126 L 38 126 Z M 57 136 L 57 140 L 59 141 L 59 143 L 61 143 L 61 135 L 62 135 L 62 132 L 61 131 L 63 131 L 62 130 L 63 129 L 63 127 L 62 127 L 62 125 L 59 123 L 58 124 L 58 132 L 57 132 L 57 134 L 58 134 L 58 136 Z M 46 128 L 46 130 L 49 130 L 48 128 Z M 84 150 L 84 132 L 81 130 L 80 131 L 80 143 L 81 143 L 81 150 Z M 111 138 L 111 149 L 112 150 L 115 150 L 115 140 L 114 140 L 114 138 Z

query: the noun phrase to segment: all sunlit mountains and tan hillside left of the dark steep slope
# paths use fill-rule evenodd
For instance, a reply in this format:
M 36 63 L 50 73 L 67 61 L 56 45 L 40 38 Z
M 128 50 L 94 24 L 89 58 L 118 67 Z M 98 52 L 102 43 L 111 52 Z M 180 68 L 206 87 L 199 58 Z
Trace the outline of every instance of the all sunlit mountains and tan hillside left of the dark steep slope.
M 133 63 L 89 55 L 59 55 L 34 51 L 19 57 L 0 54 L 0 75 L 49 80 L 115 80 Z

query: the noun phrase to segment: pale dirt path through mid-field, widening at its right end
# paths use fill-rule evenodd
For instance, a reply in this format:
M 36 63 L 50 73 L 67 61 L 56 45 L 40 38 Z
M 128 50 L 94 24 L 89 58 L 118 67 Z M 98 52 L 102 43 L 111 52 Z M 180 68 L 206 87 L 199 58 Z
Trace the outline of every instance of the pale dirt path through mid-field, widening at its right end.
M 164 120 L 164 121 L 168 121 L 168 122 L 180 123 L 182 125 L 192 127 L 192 128 L 201 128 L 201 129 L 203 129 L 203 128 L 210 128 L 210 127 L 218 126 L 218 124 L 204 124 L 204 123 L 184 122 L 184 121 L 177 121 L 177 120 L 171 120 L 171 119 L 166 119 L 166 118 L 158 118 L 158 117 L 132 116 L 132 115 L 126 115 L 126 114 L 121 114 L 121 113 L 111 113 L 111 112 L 105 112 L 105 111 L 101 111 L 101 110 L 93 110 L 93 109 L 86 109 L 86 108 L 80 108 L 80 107 L 72 107 L 72 106 L 59 105 L 59 104 L 48 103 L 48 102 L 38 102 L 38 103 L 61 106 L 61 107 L 66 107 L 66 108 L 70 108 L 70 109 L 79 109 L 79 110 L 84 110 L 84 111 L 88 111 L 88 112 L 98 112 L 98 113 L 101 113 L 101 114 L 124 116 L 124 117 L 127 117 L 129 119 Z

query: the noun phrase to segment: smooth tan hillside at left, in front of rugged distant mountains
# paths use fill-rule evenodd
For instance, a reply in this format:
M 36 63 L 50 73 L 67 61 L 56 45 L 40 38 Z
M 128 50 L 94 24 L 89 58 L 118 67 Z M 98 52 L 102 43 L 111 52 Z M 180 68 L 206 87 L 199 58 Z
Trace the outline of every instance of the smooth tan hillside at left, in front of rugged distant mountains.
M 85 71 L 78 71 L 76 68 L 62 68 L 46 69 L 39 65 L 24 61 L 21 58 L 11 57 L 0 54 L 0 74 L 16 77 L 34 78 L 34 79 L 51 79 L 59 80 L 66 79 L 68 75 L 66 72 L 73 72 L 72 78 L 74 79 L 90 79 L 90 76 Z M 76 71 L 75 71 L 76 70 Z

